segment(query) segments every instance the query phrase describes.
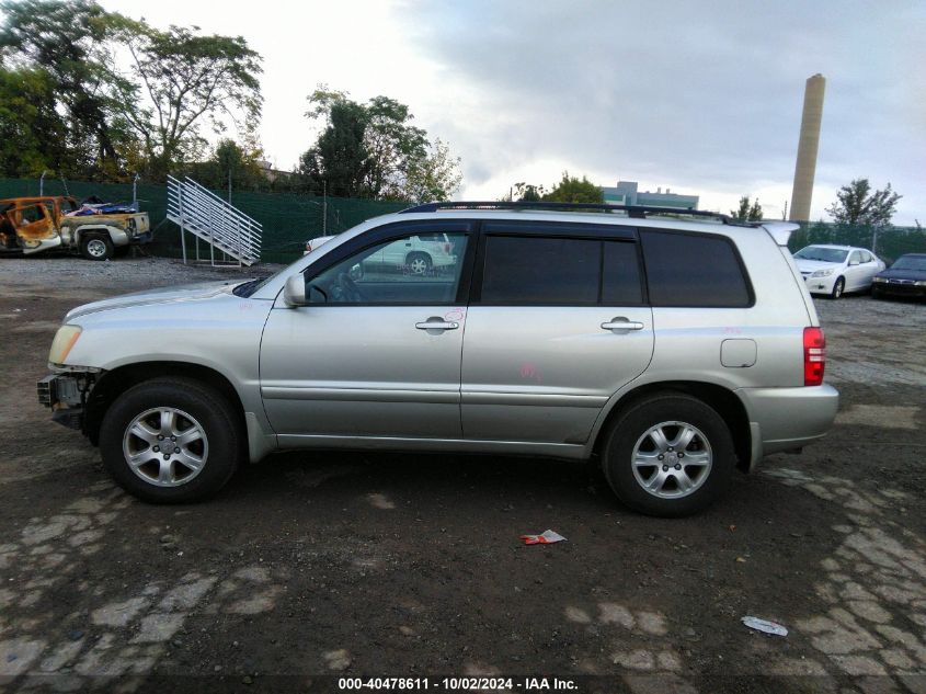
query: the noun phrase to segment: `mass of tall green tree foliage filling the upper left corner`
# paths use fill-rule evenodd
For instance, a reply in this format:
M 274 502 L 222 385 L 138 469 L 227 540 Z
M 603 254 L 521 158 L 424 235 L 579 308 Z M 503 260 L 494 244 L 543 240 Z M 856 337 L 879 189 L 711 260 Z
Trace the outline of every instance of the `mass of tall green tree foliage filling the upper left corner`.
M 3 0 L 0 8 L 0 65 L 44 73 L 65 116 L 65 132 L 39 147 L 57 174 L 128 180 L 140 171 L 162 180 L 205 156 L 204 125 L 253 132 L 261 57 L 240 36 L 159 31 L 93 0 Z M 125 75 L 115 67 L 119 49 L 132 58 Z M 30 117 L 23 113 L 16 127 L 27 129 Z

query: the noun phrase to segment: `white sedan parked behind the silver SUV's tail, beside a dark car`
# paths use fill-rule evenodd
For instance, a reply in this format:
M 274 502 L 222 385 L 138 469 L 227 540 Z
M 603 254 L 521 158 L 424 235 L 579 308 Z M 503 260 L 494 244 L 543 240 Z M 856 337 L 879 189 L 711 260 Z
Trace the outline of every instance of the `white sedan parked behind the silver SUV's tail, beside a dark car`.
M 794 253 L 794 262 L 811 294 L 837 299 L 846 292 L 867 292 L 884 263 L 866 248 L 821 243 Z

